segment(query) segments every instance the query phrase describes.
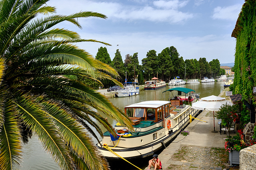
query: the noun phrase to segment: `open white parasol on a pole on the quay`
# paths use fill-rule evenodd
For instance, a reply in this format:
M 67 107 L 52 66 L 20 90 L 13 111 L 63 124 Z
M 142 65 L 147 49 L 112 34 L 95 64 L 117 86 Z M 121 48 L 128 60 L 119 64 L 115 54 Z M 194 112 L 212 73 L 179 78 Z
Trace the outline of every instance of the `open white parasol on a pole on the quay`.
M 193 103 L 192 108 L 199 109 L 199 110 L 206 109 L 208 111 L 213 111 L 214 131 L 212 132 L 216 133 L 218 131 L 215 131 L 214 111 L 219 111 L 220 106 L 224 104 L 232 105 L 232 103 L 227 101 L 226 98 L 221 98 L 221 97 L 212 95 L 205 98 L 201 98 L 200 101 Z

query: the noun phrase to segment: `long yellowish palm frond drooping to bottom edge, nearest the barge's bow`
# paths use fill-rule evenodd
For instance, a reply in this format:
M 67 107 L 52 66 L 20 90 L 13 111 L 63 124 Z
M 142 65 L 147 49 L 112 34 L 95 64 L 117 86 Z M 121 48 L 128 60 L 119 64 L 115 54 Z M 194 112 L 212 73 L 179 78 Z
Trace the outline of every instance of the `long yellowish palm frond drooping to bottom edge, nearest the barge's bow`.
M 98 149 L 93 145 L 93 141 L 88 138 L 88 134 L 76 119 L 67 114 L 67 111 L 61 109 L 56 104 L 43 102 L 42 105 L 48 111 L 48 114 L 54 119 L 55 124 L 59 127 L 60 133 L 71 150 L 82 160 L 85 160 L 89 169 L 100 170 L 98 160 L 101 158 L 97 155 Z

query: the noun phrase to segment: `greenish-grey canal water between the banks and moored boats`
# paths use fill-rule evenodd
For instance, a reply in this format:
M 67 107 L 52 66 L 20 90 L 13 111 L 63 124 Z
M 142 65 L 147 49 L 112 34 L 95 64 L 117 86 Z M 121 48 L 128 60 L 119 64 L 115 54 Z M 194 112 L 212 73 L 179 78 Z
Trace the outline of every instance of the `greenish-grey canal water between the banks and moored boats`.
M 218 96 L 222 90 L 224 90 L 224 82 L 208 82 L 208 83 L 199 83 L 199 84 L 185 84 L 181 86 L 167 86 L 159 90 L 145 90 L 140 92 L 140 95 L 131 96 L 126 98 L 112 98 L 110 101 L 122 111 L 124 111 L 124 106 L 130 104 L 148 101 L 148 100 L 168 100 L 170 92 L 167 92 L 165 95 L 165 90 L 175 87 L 184 87 L 190 88 L 196 91 L 196 94 L 200 95 L 200 98 L 215 95 Z M 174 94 L 174 93 L 173 93 Z M 172 94 L 171 94 L 172 95 Z M 108 119 L 110 124 L 114 126 L 116 121 Z M 95 141 L 96 143 L 96 141 Z M 27 145 L 23 146 L 23 162 L 21 164 L 21 170 L 60 170 L 58 165 L 51 159 L 50 155 L 47 154 L 38 143 L 38 138 L 33 136 L 32 139 L 28 142 Z M 147 160 L 139 162 L 140 168 L 146 168 Z M 113 168 L 117 169 L 117 168 Z M 122 166 L 120 169 L 127 169 Z M 130 170 L 136 170 L 133 168 L 128 168 Z

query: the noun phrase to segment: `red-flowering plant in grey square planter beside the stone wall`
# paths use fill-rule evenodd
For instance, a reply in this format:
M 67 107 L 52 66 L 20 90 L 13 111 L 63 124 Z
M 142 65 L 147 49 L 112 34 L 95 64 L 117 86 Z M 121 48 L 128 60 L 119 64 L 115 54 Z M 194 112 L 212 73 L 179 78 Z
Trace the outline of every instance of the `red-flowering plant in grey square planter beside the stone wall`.
M 225 141 L 225 149 L 229 152 L 230 166 L 232 166 L 232 164 L 239 164 L 240 150 L 247 148 L 250 145 L 244 143 L 240 133 L 237 133 L 236 136 L 228 137 Z

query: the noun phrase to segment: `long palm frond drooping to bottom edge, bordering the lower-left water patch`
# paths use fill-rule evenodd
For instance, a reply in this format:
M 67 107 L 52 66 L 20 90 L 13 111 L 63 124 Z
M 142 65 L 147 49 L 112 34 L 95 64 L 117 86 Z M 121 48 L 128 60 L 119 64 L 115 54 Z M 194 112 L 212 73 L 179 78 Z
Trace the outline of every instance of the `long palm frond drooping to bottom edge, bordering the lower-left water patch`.
M 17 97 L 17 102 L 14 104 L 17 106 L 20 119 L 38 135 L 43 147 L 50 152 L 60 168 L 70 169 L 71 162 L 67 157 L 69 151 L 54 122 L 41 109 L 40 104 L 36 104 L 36 101 L 30 96 L 24 95 Z

